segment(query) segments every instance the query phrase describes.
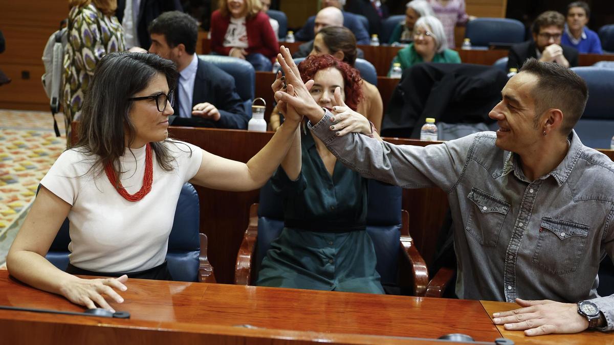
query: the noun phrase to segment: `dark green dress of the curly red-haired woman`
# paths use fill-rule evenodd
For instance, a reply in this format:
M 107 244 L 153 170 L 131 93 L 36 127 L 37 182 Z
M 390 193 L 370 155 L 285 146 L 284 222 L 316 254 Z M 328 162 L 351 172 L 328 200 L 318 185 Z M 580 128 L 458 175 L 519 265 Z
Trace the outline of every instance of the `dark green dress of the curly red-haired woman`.
M 292 181 L 271 177 L 284 198 L 286 227 L 262 260 L 256 285 L 384 293 L 367 220 L 367 179 L 336 161 L 328 174 L 311 133 L 301 137 L 302 167 Z

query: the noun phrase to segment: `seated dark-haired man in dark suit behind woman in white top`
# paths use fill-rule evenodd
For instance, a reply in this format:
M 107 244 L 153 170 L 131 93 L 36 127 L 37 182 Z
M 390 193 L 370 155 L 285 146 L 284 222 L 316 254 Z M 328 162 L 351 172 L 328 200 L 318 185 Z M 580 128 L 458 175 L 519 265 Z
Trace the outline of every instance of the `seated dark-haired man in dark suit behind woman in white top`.
M 149 26 L 150 53 L 173 60 L 179 80 L 175 90 L 175 126 L 247 128 L 249 115 L 230 74 L 195 54 L 198 24 L 179 11 L 165 12 Z

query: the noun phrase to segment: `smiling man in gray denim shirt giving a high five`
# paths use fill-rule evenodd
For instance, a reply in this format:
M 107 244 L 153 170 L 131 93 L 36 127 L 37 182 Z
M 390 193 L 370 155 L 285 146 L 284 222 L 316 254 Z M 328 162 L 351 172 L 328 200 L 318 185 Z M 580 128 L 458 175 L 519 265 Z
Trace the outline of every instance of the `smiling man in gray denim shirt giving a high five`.
M 577 333 L 589 324 L 614 329 L 614 295 L 596 291 L 600 260 L 614 257 L 614 163 L 572 131 L 588 98 L 577 74 L 528 60 L 489 114 L 500 126 L 496 134 L 397 146 L 344 136 L 352 110 L 339 90 L 334 113 L 319 108 L 283 55 L 295 95 L 278 92 L 276 99 L 316 123 L 313 133 L 345 165 L 403 188 L 437 185 L 448 194 L 460 298 L 516 301 L 523 308 L 495 313 L 494 322 L 526 335 Z M 594 316 L 578 312 L 585 300 L 593 303 L 581 304 L 589 311 L 599 309 Z

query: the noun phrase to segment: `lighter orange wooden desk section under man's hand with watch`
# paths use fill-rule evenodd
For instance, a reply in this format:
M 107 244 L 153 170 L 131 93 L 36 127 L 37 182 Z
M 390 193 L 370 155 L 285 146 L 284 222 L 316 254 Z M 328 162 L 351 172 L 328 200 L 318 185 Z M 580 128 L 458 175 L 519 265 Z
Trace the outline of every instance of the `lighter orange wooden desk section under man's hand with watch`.
M 484 310 L 489 316 L 494 312 L 509 311 L 518 309 L 516 303 L 480 301 Z M 508 331 L 503 326 L 497 326 L 501 335 L 504 338 L 511 339 L 516 344 L 540 344 L 540 345 L 592 345 L 592 344 L 614 344 L 612 333 L 604 333 L 595 330 L 587 330 L 576 334 L 556 334 L 556 335 L 540 335 L 540 336 L 525 336 L 523 331 Z

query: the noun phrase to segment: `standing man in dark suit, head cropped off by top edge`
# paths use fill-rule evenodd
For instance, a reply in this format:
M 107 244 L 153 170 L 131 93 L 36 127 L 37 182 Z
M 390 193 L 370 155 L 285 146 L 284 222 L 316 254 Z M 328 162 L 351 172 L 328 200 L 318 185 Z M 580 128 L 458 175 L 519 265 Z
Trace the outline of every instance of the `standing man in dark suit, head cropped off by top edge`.
M 130 17 L 125 16 L 126 10 L 130 10 Z M 182 11 L 179 0 L 117 0 L 115 15 L 124 28 L 126 48 L 149 47 L 149 24 L 162 12 L 173 10 Z

